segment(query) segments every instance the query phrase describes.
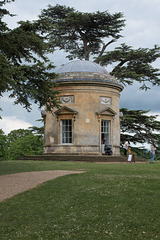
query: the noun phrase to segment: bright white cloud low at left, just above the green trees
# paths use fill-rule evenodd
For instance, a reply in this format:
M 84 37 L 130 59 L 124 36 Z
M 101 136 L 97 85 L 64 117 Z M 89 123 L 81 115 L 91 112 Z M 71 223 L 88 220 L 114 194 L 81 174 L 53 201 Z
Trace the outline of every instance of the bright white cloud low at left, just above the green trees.
M 16 129 L 27 129 L 32 127 L 28 122 L 18 119 L 16 116 L 7 116 L 0 119 L 0 126 L 3 132 L 7 135 L 12 130 Z

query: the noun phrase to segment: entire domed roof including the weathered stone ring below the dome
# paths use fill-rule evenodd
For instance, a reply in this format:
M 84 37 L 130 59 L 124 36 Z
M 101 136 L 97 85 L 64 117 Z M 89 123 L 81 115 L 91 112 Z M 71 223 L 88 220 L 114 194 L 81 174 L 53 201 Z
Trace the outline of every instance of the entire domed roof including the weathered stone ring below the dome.
M 97 63 L 86 60 L 75 60 L 64 64 L 56 71 L 58 77 L 54 82 L 61 84 L 108 84 L 123 87 L 111 76 L 107 70 Z

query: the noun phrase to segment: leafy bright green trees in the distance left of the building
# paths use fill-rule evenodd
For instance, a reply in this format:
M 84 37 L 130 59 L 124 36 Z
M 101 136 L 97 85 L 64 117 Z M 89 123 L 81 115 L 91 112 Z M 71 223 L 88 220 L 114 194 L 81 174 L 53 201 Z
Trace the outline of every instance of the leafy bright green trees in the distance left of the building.
M 18 129 L 8 135 L 0 129 L 0 160 L 17 160 L 43 153 L 43 128 Z

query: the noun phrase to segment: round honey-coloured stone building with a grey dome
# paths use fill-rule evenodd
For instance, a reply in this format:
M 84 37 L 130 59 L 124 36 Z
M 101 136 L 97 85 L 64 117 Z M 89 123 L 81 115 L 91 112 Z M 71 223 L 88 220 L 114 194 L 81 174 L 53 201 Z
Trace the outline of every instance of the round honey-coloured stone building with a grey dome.
M 71 61 L 58 71 L 60 109 L 44 114 L 44 153 L 120 154 L 119 98 L 123 87 L 104 67 Z

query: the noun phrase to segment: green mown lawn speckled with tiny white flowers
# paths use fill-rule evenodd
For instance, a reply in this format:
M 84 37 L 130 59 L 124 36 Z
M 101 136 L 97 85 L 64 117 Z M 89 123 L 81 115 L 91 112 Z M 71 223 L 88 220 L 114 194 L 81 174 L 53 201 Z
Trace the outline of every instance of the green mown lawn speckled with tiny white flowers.
M 1 240 L 160 239 L 160 163 L 0 162 L 0 175 L 79 170 L 0 203 Z

